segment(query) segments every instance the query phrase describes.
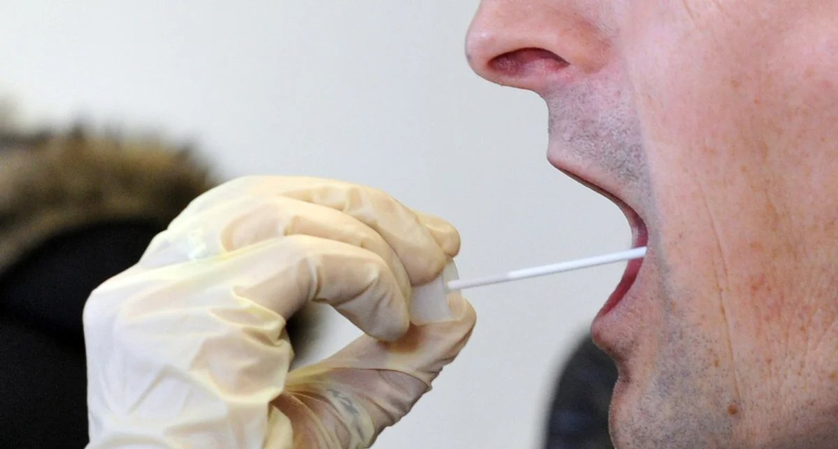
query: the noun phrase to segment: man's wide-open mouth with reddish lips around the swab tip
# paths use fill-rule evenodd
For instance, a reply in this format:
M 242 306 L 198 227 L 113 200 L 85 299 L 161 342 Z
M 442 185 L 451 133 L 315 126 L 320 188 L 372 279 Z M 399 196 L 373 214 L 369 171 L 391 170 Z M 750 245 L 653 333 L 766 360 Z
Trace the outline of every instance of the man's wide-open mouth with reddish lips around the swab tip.
M 596 191 L 600 195 L 605 196 L 620 208 L 620 211 L 623 212 L 623 215 L 625 215 L 626 220 L 629 222 L 629 227 L 631 227 L 632 247 L 645 247 L 647 245 L 649 242 L 649 232 L 646 228 L 646 223 L 632 207 L 629 207 L 626 202 L 623 202 L 623 200 L 613 195 L 610 191 L 606 191 L 602 187 L 593 184 L 591 181 L 588 181 L 571 171 L 561 171 L 566 173 L 567 176 L 571 176 L 582 185 L 587 186 L 592 191 Z M 644 258 L 638 258 L 629 261 L 625 271 L 623 272 L 623 278 L 620 279 L 620 282 L 617 284 L 617 288 L 615 288 L 613 293 L 611 293 L 608 297 L 608 300 L 603 305 L 603 309 L 600 309 L 597 317 L 608 314 L 608 312 L 614 309 L 614 307 L 616 307 L 617 304 L 623 300 L 626 293 L 629 293 L 629 289 L 632 285 L 634 285 L 634 281 L 637 279 L 638 273 L 640 273 L 640 267 L 643 266 L 643 260 Z

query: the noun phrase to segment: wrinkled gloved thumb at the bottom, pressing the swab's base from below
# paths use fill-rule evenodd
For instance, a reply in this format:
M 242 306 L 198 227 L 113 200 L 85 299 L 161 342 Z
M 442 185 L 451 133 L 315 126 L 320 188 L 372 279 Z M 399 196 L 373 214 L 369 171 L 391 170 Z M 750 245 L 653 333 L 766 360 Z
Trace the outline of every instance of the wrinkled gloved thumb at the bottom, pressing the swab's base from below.
M 289 373 L 285 392 L 272 406 L 291 418 L 295 442 L 367 447 L 399 421 L 471 334 L 471 305 L 462 297 L 450 305 L 458 319 L 411 326 L 390 343 L 362 336 L 327 360 Z

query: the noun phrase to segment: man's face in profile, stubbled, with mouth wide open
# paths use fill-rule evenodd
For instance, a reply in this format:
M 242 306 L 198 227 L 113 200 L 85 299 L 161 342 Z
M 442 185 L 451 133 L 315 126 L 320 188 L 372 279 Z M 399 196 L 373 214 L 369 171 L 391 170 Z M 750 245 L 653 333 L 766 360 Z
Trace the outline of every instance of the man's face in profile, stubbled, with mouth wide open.
M 592 326 L 615 444 L 833 444 L 838 1 L 484 0 L 468 58 L 648 244 Z

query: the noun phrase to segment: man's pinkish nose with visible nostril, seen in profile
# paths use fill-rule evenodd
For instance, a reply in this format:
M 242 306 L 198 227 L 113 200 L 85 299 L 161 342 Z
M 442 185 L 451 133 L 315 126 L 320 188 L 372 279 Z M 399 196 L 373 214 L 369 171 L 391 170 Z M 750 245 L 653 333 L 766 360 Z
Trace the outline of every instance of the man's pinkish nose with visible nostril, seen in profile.
M 483 0 L 468 29 L 468 64 L 489 81 L 541 94 L 561 77 L 597 71 L 607 45 L 581 2 Z

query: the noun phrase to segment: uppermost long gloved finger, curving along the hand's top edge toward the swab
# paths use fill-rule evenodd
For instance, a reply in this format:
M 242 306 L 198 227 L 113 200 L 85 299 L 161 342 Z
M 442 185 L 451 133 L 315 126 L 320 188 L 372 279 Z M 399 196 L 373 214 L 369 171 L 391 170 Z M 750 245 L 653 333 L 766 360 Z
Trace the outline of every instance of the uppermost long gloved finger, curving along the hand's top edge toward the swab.
M 445 266 L 445 252 L 416 214 L 385 192 L 367 186 L 309 177 L 248 176 L 205 193 L 187 211 L 242 195 L 286 196 L 354 217 L 393 248 L 414 285 L 436 278 Z

